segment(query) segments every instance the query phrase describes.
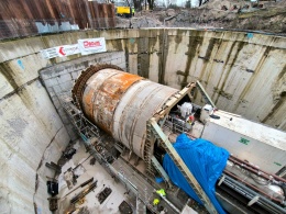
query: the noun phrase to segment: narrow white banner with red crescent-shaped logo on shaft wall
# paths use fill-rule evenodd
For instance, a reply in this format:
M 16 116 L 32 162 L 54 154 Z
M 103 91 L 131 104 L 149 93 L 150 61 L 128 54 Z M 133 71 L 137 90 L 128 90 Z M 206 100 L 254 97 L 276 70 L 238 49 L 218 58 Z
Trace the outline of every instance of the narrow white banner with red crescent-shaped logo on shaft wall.
M 78 44 L 62 45 L 62 46 L 41 50 L 42 56 L 46 59 L 55 58 L 55 57 L 64 57 L 74 54 L 79 54 L 79 53 L 80 50 L 78 48 Z

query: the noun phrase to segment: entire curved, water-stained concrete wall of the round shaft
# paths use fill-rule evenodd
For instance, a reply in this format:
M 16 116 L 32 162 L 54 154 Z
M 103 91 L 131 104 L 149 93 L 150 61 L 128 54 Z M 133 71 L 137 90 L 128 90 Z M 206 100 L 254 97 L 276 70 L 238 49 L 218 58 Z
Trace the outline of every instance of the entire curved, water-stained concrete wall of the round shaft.
M 286 129 L 283 37 L 254 34 L 248 38 L 238 32 L 154 29 L 85 31 L 1 42 L 1 213 L 33 213 L 34 202 L 38 212 L 48 213 L 45 182 L 53 172 L 44 164 L 59 158 L 70 136 L 40 81 L 38 70 L 50 67 L 52 76 L 45 74 L 45 80 L 56 79 L 54 68 L 80 55 L 47 60 L 40 50 L 86 37 L 106 37 L 108 52 L 122 53 L 125 64 L 122 59 L 119 64 L 130 72 L 177 89 L 199 79 L 220 109 Z M 90 57 L 82 65 L 92 63 Z M 103 61 L 117 60 L 111 57 Z M 73 77 L 76 70 L 75 66 L 66 72 Z M 68 82 L 57 83 L 61 90 L 70 87 Z M 196 95 L 196 100 L 200 102 L 201 98 Z

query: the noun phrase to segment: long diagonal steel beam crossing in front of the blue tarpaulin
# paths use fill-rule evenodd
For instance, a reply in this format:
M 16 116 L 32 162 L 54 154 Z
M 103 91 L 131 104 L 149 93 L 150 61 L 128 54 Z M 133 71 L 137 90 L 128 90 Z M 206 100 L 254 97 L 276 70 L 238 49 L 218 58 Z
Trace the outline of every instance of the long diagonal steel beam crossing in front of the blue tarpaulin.
M 182 174 L 186 178 L 186 180 L 188 181 L 193 190 L 196 192 L 198 198 L 201 200 L 208 212 L 211 214 L 217 214 L 218 212 L 213 204 L 210 202 L 208 195 L 205 193 L 196 178 L 189 171 L 188 167 L 185 165 L 184 160 L 177 154 L 177 151 L 168 140 L 168 137 L 163 133 L 154 117 L 147 121 L 147 129 L 150 129 L 156 138 L 162 140 L 162 146 L 168 153 L 169 157 L 175 162 L 177 168 L 180 170 Z

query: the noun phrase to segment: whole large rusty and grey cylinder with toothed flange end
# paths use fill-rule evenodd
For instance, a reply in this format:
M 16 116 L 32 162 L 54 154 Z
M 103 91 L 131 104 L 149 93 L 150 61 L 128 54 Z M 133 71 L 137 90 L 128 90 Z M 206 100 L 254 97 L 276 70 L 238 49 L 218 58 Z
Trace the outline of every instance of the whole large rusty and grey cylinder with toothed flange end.
M 74 98 L 91 122 L 144 159 L 146 121 L 178 90 L 112 66 L 101 68 L 78 78 Z

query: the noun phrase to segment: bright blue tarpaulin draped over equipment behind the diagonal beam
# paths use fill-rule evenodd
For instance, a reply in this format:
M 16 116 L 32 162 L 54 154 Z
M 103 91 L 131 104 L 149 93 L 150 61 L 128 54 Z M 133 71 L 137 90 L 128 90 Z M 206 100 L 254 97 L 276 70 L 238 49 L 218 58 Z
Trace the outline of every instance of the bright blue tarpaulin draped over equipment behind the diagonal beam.
M 229 151 L 215 146 L 206 139 L 198 138 L 191 140 L 186 134 L 179 135 L 173 146 L 209 196 L 217 211 L 220 214 L 226 213 L 217 201 L 215 185 L 226 168 Z M 201 203 L 168 154 L 164 157 L 163 167 L 177 187 L 182 188 L 190 198 Z

